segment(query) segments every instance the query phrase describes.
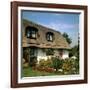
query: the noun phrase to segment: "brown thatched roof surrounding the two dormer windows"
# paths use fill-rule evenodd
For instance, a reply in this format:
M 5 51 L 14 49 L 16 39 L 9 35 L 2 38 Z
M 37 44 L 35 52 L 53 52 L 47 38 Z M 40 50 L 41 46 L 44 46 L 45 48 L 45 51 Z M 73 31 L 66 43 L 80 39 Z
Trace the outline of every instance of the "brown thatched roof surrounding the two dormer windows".
M 23 47 L 35 46 L 39 48 L 60 48 L 60 49 L 70 49 L 69 44 L 66 39 L 61 35 L 60 32 L 53 30 L 51 28 L 36 24 L 32 21 L 23 20 Z M 25 36 L 25 28 L 27 26 L 32 26 L 38 29 L 37 39 L 29 39 Z M 46 33 L 52 32 L 54 34 L 53 42 L 49 42 L 46 39 Z

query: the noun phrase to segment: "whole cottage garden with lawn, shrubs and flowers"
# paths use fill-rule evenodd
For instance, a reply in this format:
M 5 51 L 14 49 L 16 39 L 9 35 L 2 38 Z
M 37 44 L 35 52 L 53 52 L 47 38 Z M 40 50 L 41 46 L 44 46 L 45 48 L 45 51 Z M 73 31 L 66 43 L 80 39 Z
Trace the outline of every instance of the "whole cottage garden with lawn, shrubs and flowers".
M 79 74 L 79 59 L 52 57 L 37 62 L 32 58 L 29 63 L 23 62 L 22 77 Z

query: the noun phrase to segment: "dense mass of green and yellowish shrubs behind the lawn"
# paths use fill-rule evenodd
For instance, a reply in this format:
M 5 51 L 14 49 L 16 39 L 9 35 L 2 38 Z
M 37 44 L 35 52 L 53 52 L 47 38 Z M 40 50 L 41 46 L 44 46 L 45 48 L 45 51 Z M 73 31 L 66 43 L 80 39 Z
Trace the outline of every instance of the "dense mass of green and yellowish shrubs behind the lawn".
M 37 69 L 45 72 L 60 72 L 59 69 L 61 69 L 63 75 L 78 74 L 79 60 L 72 58 L 61 60 L 58 57 L 47 60 L 41 59 Z

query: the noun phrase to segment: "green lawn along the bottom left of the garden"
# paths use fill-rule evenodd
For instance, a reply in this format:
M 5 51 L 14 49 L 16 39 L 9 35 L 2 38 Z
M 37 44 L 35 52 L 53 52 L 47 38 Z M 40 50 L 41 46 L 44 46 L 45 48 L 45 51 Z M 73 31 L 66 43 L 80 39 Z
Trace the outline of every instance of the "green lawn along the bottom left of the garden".
M 51 75 L 60 75 L 59 73 L 49 73 L 49 72 L 45 72 L 45 71 L 37 71 L 37 70 L 33 70 L 31 67 L 29 68 L 23 68 L 22 70 L 22 77 L 33 77 L 33 76 L 51 76 Z

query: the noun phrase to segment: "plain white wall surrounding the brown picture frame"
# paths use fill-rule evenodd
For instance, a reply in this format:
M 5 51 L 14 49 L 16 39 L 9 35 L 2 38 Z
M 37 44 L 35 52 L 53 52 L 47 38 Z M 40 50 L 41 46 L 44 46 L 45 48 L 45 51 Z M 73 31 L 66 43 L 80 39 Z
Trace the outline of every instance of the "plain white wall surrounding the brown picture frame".
M 10 1 L 0 0 L 0 90 L 90 90 L 90 70 L 88 70 L 88 84 L 61 85 L 35 88 L 10 88 Z M 29 1 L 29 0 L 22 0 Z M 90 24 L 90 0 L 30 0 L 47 3 L 88 5 L 88 23 Z M 88 38 L 90 38 L 90 25 L 88 25 Z M 90 40 L 88 40 L 88 53 L 90 54 Z M 88 55 L 90 64 L 90 55 Z M 90 68 L 90 65 L 88 65 Z

